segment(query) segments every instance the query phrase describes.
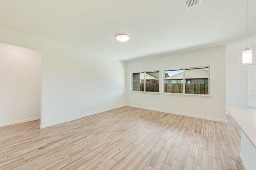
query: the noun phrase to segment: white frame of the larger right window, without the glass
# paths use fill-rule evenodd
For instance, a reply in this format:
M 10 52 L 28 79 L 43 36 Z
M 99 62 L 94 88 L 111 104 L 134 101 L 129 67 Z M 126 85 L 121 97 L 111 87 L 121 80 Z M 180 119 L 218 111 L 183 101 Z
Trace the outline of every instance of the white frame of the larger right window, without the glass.
M 196 68 L 207 68 L 208 67 L 208 94 L 188 94 L 185 93 L 185 70 L 187 69 L 196 69 Z M 173 94 L 173 95 L 182 95 L 182 96 L 211 96 L 210 94 L 210 65 L 209 66 L 196 66 L 196 67 L 184 67 L 184 68 L 172 68 L 172 69 L 164 69 L 163 74 L 166 71 L 175 71 L 175 70 L 183 70 L 183 93 L 167 93 L 164 92 L 164 76 L 163 76 L 163 81 L 162 81 L 162 94 Z

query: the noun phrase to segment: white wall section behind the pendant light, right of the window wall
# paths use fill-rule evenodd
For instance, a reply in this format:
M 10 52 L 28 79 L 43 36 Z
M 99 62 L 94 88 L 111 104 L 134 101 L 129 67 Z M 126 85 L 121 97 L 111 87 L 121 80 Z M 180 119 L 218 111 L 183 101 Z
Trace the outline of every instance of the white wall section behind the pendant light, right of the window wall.
M 256 50 L 255 36 L 250 37 L 248 47 Z M 256 66 L 256 63 L 241 64 L 241 51 L 245 48 L 246 39 L 226 45 L 226 105 L 230 107 L 248 107 L 248 66 Z

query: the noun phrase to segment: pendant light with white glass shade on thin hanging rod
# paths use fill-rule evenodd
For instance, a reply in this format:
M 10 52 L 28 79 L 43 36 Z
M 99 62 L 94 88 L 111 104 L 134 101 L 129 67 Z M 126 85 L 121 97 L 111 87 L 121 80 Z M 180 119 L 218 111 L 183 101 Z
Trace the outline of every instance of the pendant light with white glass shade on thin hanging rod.
M 246 49 L 242 51 L 242 64 L 252 64 L 253 62 L 253 51 L 248 48 L 248 0 L 246 0 Z

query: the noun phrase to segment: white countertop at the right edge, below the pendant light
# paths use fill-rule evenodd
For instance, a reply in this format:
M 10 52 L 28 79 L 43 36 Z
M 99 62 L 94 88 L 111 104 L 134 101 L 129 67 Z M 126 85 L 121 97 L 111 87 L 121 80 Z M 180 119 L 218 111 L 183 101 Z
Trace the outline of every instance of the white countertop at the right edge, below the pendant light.
M 256 109 L 226 107 L 244 134 L 256 148 Z

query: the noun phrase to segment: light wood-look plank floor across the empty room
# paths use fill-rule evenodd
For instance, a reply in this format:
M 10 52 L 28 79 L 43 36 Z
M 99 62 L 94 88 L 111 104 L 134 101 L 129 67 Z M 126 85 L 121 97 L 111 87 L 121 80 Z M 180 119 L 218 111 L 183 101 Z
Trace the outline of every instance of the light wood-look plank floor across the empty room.
M 228 123 L 121 107 L 45 129 L 0 128 L 0 170 L 243 170 L 240 129 Z

